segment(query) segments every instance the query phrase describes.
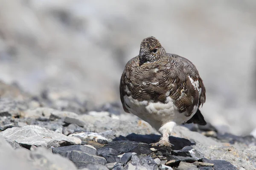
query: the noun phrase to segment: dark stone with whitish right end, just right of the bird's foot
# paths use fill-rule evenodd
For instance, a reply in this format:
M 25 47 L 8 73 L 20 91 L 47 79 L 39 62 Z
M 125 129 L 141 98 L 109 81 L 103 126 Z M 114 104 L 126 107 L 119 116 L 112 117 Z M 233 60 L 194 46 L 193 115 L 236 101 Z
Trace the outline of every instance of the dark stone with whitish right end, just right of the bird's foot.
M 176 156 L 192 157 L 197 160 L 204 157 L 204 154 L 195 150 L 192 146 L 185 146 L 181 150 L 172 150 L 172 154 Z

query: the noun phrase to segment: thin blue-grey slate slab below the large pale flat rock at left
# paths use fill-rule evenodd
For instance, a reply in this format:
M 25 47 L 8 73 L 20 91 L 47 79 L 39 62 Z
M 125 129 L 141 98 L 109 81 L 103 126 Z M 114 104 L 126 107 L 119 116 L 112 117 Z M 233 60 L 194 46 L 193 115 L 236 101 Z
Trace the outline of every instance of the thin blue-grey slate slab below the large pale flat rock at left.
M 89 153 L 89 154 L 92 154 L 92 155 L 96 155 L 96 149 L 95 148 L 80 145 L 80 144 L 64 146 L 64 147 L 54 147 L 54 148 L 52 148 L 52 153 L 58 153 L 61 156 L 65 156 L 65 155 L 67 155 L 68 152 L 73 151 L 73 150 L 77 150 L 77 151 L 81 151 L 81 152 L 84 152 L 84 153 Z

